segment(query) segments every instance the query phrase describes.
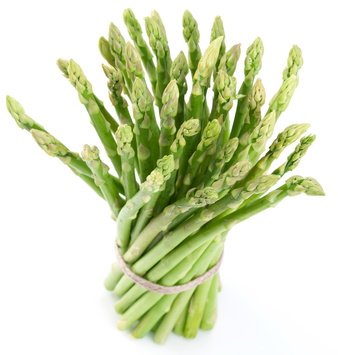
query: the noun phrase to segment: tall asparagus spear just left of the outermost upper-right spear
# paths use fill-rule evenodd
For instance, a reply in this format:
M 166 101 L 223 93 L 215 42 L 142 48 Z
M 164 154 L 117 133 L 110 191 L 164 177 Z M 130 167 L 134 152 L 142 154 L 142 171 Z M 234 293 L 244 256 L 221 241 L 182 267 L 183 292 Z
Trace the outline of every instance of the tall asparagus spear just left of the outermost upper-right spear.
M 245 116 L 247 114 L 247 95 L 249 94 L 252 85 L 254 83 L 255 76 L 258 74 L 262 67 L 262 56 L 264 53 L 262 40 L 258 37 L 253 44 L 248 48 L 246 52 L 246 58 L 244 62 L 244 81 L 239 89 L 239 94 L 244 97 L 238 100 L 234 123 L 232 125 L 230 137 L 238 137 Z

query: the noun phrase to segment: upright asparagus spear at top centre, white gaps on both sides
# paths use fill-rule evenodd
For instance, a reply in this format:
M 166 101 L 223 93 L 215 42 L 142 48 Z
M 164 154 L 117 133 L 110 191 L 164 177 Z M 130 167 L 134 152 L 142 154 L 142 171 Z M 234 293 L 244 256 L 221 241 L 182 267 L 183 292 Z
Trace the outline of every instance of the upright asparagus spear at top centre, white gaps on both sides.
M 188 10 L 184 11 L 182 25 L 183 37 L 188 45 L 188 65 L 191 71 L 191 76 L 194 77 L 202 53 L 199 46 L 200 33 L 198 30 L 198 24 Z

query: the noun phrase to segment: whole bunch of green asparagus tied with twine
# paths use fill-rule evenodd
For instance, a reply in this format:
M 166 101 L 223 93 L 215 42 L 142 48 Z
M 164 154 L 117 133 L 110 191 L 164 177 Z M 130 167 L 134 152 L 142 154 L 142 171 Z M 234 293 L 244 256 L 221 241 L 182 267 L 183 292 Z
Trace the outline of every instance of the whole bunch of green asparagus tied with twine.
M 199 328 L 213 328 L 217 318 L 217 270 L 228 232 L 288 196 L 324 195 L 313 178 L 292 176 L 279 183 L 315 139 L 301 138 L 308 124 L 287 127 L 265 152 L 297 87 L 303 59 L 293 46 L 280 89 L 263 113 L 265 91 L 256 79 L 263 56 L 260 38 L 246 52 L 244 81 L 237 90 L 234 72 L 240 45 L 226 49 L 220 17 L 202 55 L 197 22 L 186 11 L 187 56 L 180 52 L 173 60 L 157 12 L 145 19 L 149 45 L 130 9 L 124 12 L 124 21 L 133 44 L 125 42 L 114 24 L 109 38 L 99 40 L 119 123 L 74 60 L 57 62 L 78 92 L 116 176 L 96 146 L 85 145 L 81 155 L 74 153 L 13 98 L 7 97 L 7 106 L 47 154 L 58 157 L 107 201 L 117 221 L 119 262 L 113 264 L 105 286 L 120 297 L 118 328 L 132 328 L 137 338 L 153 331 L 158 343 L 171 331 L 193 338 Z M 210 90 L 213 97 L 208 102 Z M 269 172 L 298 139 L 286 161 Z M 277 188 L 269 192 L 275 184 Z

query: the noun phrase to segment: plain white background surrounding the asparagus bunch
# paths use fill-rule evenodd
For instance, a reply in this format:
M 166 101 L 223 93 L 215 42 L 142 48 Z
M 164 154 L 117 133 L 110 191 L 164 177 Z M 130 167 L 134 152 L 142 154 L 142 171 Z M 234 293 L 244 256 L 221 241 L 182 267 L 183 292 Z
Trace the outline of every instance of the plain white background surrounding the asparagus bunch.
M 0 12 L 0 353 L 12 354 L 338 354 L 337 33 L 334 1 L 17 1 Z M 186 49 L 189 9 L 205 48 L 221 15 L 228 48 L 265 45 L 260 77 L 268 99 L 281 84 L 288 51 L 305 58 L 300 84 L 277 131 L 311 123 L 317 140 L 296 170 L 316 177 L 327 196 L 290 198 L 237 226 L 226 242 L 219 320 L 191 341 L 164 346 L 115 328 L 103 280 L 114 259 L 107 206 L 57 159 L 48 157 L 5 109 L 5 95 L 74 151 L 98 144 L 75 90 L 55 65 L 74 58 L 107 98 L 97 41 L 109 22 L 123 34 L 122 11 L 142 20 L 157 9 L 173 56 Z M 289 152 L 289 151 L 288 151 Z M 284 156 L 283 156 L 284 157 Z

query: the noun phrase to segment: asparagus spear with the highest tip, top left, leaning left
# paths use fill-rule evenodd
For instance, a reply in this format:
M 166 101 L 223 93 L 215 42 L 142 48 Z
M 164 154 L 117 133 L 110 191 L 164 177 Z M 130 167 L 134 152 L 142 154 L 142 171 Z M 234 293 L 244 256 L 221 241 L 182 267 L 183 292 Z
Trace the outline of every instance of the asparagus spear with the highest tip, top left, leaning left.
M 137 21 L 135 15 L 131 9 L 126 9 L 123 12 L 123 19 L 124 19 L 124 23 L 127 26 L 128 33 L 134 42 L 134 46 L 136 47 L 136 49 L 138 50 L 138 52 L 141 56 L 142 63 L 146 69 L 146 72 L 147 72 L 150 82 L 151 82 L 153 93 L 155 93 L 156 82 L 157 82 L 156 69 L 155 69 L 153 59 L 152 59 L 153 55 L 142 36 L 141 25 Z

